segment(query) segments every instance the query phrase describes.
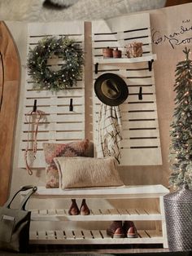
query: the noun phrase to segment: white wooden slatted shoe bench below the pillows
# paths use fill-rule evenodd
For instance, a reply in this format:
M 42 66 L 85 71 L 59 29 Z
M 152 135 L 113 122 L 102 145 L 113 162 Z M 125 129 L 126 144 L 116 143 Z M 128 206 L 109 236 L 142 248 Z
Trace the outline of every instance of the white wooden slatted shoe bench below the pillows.
M 151 221 L 161 223 L 156 225 L 155 230 L 138 230 L 138 238 L 111 238 L 107 236 L 106 229 L 98 229 L 97 225 L 91 229 L 81 229 L 72 225 L 72 228 L 63 228 L 59 225 L 57 230 L 45 230 L 41 225 L 37 225 L 37 230 L 30 232 L 31 244 L 66 244 L 66 245 L 88 245 L 88 244 L 163 244 L 164 248 L 168 247 L 167 233 L 164 219 L 163 196 L 168 193 L 168 189 L 162 185 L 146 185 L 146 186 L 129 186 L 120 188 L 93 188 L 93 189 L 76 189 L 61 190 L 59 188 L 46 189 L 39 187 L 33 195 L 41 205 L 41 201 L 49 199 L 68 199 L 68 198 L 88 198 L 88 199 L 152 199 L 158 198 L 159 210 L 147 209 L 99 209 L 91 210 L 91 214 L 87 216 L 68 215 L 65 209 L 47 209 L 32 210 L 32 222 L 106 222 L 113 220 L 133 220 Z M 93 227 L 93 225 L 90 225 Z M 70 227 L 70 225 L 69 225 Z M 76 229 L 74 229 L 75 227 Z

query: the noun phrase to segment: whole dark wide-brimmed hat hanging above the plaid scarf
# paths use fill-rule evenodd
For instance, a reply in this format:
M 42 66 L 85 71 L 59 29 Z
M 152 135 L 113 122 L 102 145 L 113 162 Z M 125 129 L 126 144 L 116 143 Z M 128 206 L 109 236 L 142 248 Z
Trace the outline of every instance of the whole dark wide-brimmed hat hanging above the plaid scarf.
M 114 73 L 104 73 L 94 82 L 94 91 L 104 104 L 118 106 L 124 103 L 129 95 L 127 84 Z

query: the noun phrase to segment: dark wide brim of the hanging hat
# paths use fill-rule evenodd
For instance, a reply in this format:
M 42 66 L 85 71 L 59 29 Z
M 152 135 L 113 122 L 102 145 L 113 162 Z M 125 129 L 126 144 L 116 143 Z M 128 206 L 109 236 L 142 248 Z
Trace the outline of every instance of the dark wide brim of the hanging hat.
M 116 87 L 120 90 L 120 93 L 117 98 L 109 98 L 103 94 L 102 85 L 103 82 L 110 80 L 112 83 L 116 84 Z M 129 90 L 127 84 L 124 80 L 114 73 L 104 73 L 99 76 L 94 82 L 94 91 L 98 99 L 104 104 L 109 106 L 118 106 L 124 103 L 124 100 L 127 99 L 129 95 Z

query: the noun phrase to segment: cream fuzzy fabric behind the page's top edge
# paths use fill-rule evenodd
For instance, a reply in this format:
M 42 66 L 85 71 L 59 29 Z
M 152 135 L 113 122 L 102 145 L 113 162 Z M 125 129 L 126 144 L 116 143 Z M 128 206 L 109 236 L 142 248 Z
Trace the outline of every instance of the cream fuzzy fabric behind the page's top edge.
M 0 0 L 0 20 L 98 20 L 164 7 L 165 0 Z M 71 4 L 71 6 L 70 6 Z M 56 8 L 55 5 L 60 5 Z

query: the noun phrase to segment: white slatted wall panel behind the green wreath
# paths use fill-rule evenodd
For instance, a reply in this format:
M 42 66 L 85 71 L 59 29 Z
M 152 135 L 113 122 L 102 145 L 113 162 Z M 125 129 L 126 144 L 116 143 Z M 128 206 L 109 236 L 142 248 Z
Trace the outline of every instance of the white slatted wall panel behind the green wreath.
M 37 42 L 45 36 L 68 36 L 80 43 L 84 49 L 84 23 L 81 21 L 28 24 L 28 49 L 36 46 Z M 41 110 L 45 115 L 38 128 L 36 160 L 30 166 L 45 167 L 43 142 L 68 143 L 85 138 L 84 81 L 83 74 L 82 80 L 77 82 L 77 86 L 68 90 L 60 90 L 57 93 L 48 90 L 37 91 L 33 90 L 33 81 L 28 76 L 26 69 L 19 167 L 25 167 L 24 150 L 28 139 L 28 122 L 25 119 L 25 114 L 33 110 L 34 99 L 37 99 L 37 110 Z M 70 99 L 72 99 L 73 104 L 72 112 L 69 111 Z M 34 133 L 31 133 L 29 148 L 33 147 L 33 135 Z

